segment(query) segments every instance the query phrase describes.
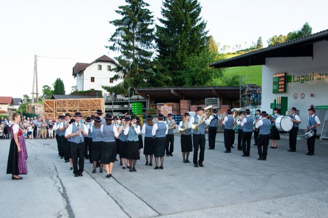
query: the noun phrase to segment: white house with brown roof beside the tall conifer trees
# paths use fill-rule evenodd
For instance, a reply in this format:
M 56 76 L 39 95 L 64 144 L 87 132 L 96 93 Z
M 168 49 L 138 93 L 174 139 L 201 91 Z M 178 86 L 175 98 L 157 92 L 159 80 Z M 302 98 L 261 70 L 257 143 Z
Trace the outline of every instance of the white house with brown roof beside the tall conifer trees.
M 118 64 L 110 57 L 103 55 L 90 64 L 76 63 L 73 67 L 73 76 L 76 78 L 76 88 L 78 91 L 102 90 L 101 86 L 116 86 L 123 80 L 114 80 L 117 74 L 111 69 L 116 68 Z

